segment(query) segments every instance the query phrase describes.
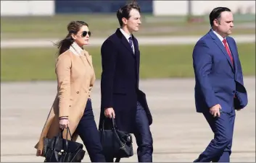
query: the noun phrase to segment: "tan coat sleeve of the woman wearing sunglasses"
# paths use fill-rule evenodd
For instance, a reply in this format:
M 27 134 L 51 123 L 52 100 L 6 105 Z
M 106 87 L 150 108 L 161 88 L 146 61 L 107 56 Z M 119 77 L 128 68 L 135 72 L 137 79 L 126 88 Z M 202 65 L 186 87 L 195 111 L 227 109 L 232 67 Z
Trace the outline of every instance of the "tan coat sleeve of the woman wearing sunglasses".
M 70 56 L 59 56 L 55 72 L 57 74 L 59 117 L 69 115 L 70 107 Z

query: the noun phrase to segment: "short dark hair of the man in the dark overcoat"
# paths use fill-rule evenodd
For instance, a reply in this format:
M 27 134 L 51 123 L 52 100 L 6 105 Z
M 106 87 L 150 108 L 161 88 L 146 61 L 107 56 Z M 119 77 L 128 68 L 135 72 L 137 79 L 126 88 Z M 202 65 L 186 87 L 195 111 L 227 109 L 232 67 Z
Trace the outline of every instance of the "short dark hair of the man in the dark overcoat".
M 120 24 L 120 26 L 123 25 L 122 18 L 125 17 L 126 19 L 129 19 L 131 17 L 130 12 L 131 9 L 138 10 L 139 13 L 141 13 L 141 8 L 139 4 L 136 3 L 136 1 L 128 2 L 128 4 L 125 4 L 125 6 L 122 6 L 117 11 L 117 19 Z

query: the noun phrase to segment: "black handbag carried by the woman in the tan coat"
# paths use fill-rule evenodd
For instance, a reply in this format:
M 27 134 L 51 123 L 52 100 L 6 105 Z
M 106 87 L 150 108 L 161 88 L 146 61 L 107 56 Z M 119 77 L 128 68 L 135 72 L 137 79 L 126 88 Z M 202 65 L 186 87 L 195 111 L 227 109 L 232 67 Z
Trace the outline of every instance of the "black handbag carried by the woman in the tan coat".
M 67 134 L 70 128 L 67 128 Z M 83 144 L 63 138 L 63 130 L 59 131 L 54 138 L 44 138 L 44 162 L 81 162 L 86 151 Z

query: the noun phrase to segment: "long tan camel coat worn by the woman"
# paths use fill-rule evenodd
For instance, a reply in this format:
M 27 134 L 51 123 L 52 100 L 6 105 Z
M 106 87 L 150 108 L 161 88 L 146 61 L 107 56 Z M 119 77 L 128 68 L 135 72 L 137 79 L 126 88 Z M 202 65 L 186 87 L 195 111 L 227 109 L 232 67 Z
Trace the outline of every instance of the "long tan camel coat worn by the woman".
M 57 74 L 57 95 L 51 107 L 46 123 L 35 148 L 43 151 L 44 138 L 53 138 L 59 132 L 59 117 L 68 116 L 69 128 L 76 141 L 78 134 L 75 129 L 83 116 L 88 97 L 94 86 L 95 74 L 91 56 L 86 50 L 80 55 L 74 53 L 75 48 L 58 56 L 55 72 Z M 77 50 L 75 50 L 77 52 Z M 66 136 L 66 130 L 63 136 Z M 68 137 L 70 139 L 70 136 Z

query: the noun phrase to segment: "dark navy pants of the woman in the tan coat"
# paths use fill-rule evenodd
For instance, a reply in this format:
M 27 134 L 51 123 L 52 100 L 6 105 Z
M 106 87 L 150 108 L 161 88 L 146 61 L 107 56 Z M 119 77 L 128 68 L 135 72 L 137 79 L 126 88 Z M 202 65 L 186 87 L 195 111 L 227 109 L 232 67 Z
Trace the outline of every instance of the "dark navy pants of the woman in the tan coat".
M 77 128 L 78 134 L 86 146 L 91 162 L 106 162 L 102 153 L 102 144 L 99 139 L 99 131 L 94 120 L 91 107 L 91 99 L 88 99 L 83 117 Z

